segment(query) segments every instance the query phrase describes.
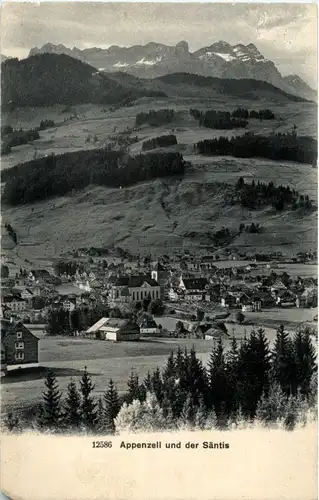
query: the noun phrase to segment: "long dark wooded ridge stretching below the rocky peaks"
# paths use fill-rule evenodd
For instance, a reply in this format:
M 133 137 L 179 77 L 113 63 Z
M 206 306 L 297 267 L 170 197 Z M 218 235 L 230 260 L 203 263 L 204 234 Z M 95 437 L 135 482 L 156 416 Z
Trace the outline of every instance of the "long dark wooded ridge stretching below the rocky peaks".
M 54 53 L 2 62 L 1 90 L 4 110 L 83 103 L 123 106 L 141 97 L 305 100 L 252 78 L 236 80 L 184 72 L 139 78 L 123 71 L 106 73 L 69 55 Z

